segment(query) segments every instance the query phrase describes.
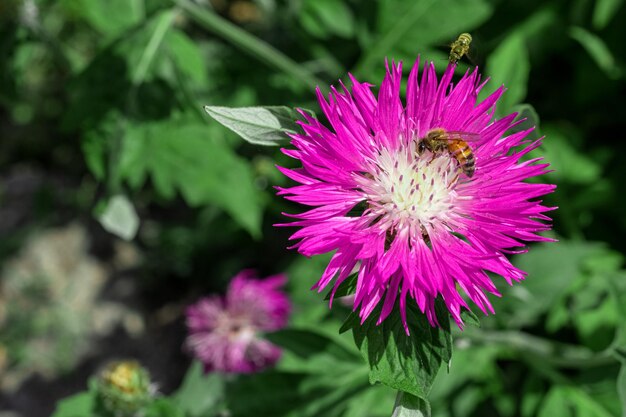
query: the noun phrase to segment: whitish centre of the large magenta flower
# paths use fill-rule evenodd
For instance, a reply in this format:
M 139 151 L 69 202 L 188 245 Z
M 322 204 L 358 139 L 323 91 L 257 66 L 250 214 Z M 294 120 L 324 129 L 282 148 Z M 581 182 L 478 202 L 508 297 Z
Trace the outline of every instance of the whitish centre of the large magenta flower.
M 456 200 L 457 161 L 447 151 L 418 154 L 415 142 L 383 149 L 370 173 L 357 179 L 370 216 L 385 229 L 429 230 L 445 222 Z

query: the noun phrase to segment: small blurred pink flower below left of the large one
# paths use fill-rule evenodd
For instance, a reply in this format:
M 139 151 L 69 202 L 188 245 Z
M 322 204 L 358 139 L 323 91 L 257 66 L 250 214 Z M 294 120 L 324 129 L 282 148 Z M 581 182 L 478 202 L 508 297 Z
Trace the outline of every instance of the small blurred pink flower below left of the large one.
M 242 271 L 225 297 L 206 297 L 187 308 L 185 344 L 207 372 L 257 372 L 280 358 L 280 349 L 260 338 L 260 332 L 287 324 L 291 306 L 279 289 L 286 277 L 257 280 L 254 275 Z

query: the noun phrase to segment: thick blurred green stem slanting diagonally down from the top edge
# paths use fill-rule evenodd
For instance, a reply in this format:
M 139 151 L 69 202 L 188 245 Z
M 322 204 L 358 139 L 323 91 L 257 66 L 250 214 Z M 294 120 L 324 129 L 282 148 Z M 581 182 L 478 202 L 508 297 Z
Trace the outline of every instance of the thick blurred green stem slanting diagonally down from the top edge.
M 302 81 L 309 88 L 325 85 L 322 80 L 315 77 L 310 71 L 300 66 L 287 55 L 221 18 L 211 10 L 200 7 L 190 0 L 173 1 L 200 26 L 227 40 L 243 52 L 289 74 L 296 80 Z

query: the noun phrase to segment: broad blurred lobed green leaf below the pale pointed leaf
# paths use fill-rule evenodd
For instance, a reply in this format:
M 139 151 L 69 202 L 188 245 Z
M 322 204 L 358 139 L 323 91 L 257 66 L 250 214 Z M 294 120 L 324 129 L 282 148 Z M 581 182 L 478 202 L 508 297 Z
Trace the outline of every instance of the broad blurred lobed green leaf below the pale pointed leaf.
M 260 235 L 263 202 L 252 169 L 206 126 L 185 120 L 131 126 L 121 154 L 118 175 L 134 188 L 149 175 L 164 198 L 180 192 L 191 206 L 214 204 Z

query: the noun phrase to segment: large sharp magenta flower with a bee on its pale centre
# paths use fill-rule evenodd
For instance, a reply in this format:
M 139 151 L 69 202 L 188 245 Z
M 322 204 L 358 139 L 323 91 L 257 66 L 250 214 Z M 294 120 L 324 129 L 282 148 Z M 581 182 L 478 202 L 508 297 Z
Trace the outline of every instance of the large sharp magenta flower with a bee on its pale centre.
M 493 117 L 504 88 L 477 103 L 484 85 L 477 71 L 453 85 L 454 68 L 439 81 L 429 63 L 418 81 L 418 61 L 404 106 L 401 63 L 388 67 L 378 97 L 352 76 L 351 91 L 332 88 L 328 101 L 318 89 L 331 128 L 302 112 L 304 134 L 291 136 L 295 150 L 283 150 L 302 168 L 279 167 L 300 184 L 279 194 L 311 209 L 280 226 L 300 228 L 291 239 L 299 239 L 293 247 L 303 255 L 335 251 L 318 291 L 334 279 L 334 293 L 357 268 L 354 310 L 362 321 L 382 303 L 381 323 L 399 298 L 407 332 L 407 302 L 435 326 L 440 296 L 462 327 L 466 299 L 493 313 L 486 293 L 500 294 L 487 271 L 509 284 L 524 278 L 505 253 L 551 240 L 537 234 L 550 228 L 542 221 L 552 209 L 538 198 L 554 185 L 524 182 L 548 164 L 521 160 L 540 141 L 525 140 L 532 129 L 505 136 L 516 114 Z M 424 139 L 433 130 L 447 139 L 438 148 Z M 465 158 L 464 142 L 450 139 L 467 143 Z

